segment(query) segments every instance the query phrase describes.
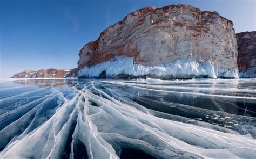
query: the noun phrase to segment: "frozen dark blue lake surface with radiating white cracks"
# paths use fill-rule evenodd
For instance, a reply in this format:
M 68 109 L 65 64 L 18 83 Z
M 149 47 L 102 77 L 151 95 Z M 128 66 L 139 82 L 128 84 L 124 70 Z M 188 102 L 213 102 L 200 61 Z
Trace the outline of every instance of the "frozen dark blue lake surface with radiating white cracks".
M 256 78 L 1 79 L 0 158 L 253 158 Z

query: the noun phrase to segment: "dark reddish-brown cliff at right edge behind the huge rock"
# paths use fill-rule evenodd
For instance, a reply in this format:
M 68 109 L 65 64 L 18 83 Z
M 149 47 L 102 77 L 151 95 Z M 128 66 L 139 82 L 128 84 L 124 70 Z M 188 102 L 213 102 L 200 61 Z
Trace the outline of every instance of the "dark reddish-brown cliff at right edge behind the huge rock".
M 239 77 L 256 77 L 256 31 L 237 33 Z

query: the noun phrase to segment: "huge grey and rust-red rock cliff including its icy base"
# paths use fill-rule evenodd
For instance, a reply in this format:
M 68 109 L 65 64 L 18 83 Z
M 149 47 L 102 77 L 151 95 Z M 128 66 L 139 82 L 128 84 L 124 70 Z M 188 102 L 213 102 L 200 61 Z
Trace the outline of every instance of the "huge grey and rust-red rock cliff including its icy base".
M 79 56 L 78 77 L 238 77 L 232 21 L 183 4 L 129 13 Z

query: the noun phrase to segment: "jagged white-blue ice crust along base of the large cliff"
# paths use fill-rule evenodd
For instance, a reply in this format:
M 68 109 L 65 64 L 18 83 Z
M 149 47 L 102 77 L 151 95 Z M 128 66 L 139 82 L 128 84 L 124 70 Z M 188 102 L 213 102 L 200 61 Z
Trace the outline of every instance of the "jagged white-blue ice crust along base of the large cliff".
M 98 77 L 103 71 L 106 71 L 107 77 L 126 74 L 132 76 L 154 75 L 158 77 L 185 78 L 190 76 L 238 78 L 238 70 L 233 71 L 217 68 L 214 67 L 214 63 L 211 61 L 199 63 L 194 59 L 178 59 L 170 63 L 150 67 L 142 64 L 134 64 L 134 57 L 123 56 L 96 64 L 95 66 L 84 67 L 79 70 L 78 77 Z

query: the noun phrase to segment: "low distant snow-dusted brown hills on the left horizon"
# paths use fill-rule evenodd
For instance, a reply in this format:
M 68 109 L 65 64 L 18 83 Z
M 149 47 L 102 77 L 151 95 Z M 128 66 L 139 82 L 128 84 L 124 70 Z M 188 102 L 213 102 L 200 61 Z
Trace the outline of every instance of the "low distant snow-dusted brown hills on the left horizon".
M 38 71 L 26 70 L 15 74 L 11 78 L 67 78 L 77 77 L 78 69 L 41 69 Z

